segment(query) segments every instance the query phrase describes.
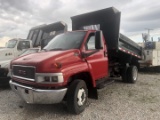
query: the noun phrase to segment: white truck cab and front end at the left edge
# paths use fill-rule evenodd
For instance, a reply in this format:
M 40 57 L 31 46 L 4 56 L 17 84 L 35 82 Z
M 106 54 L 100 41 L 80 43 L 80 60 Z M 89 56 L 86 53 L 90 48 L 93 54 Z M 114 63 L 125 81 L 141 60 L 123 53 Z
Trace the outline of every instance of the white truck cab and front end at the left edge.
M 0 85 L 8 85 L 8 67 L 12 59 L 18 57 L 26 49 L 32 48 L 32 41 L 27 39 L 11 39 L 5 48 L 0 49 Z

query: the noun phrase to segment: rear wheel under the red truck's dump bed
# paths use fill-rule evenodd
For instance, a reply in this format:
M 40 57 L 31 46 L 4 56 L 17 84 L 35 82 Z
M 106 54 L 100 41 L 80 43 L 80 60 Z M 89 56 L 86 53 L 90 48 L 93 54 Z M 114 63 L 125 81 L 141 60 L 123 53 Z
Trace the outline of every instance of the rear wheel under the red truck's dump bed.
M 130 66 L 127 70 L 128 83 L 135 83 L 138 79 L 138 69 L 136 66 Z

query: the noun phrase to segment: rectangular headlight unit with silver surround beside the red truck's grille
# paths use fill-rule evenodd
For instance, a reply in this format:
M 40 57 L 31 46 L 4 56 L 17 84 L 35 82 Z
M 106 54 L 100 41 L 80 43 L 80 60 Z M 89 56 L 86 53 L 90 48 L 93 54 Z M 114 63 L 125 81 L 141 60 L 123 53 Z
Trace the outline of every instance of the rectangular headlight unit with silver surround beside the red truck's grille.
M 63 75 L 62 73 L 37 73 L 36 82 L 37 83 L 62 83 Z

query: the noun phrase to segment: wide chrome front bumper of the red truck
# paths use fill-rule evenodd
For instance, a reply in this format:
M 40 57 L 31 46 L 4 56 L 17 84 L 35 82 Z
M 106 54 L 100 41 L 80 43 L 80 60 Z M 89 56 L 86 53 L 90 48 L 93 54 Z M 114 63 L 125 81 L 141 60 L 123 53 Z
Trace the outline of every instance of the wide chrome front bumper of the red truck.
M 60 103 L 66 92 L 67 88 L 58 90 L 44 90 L 36 89 L 32 87 L 26 87 L 10 80 L 10 86 L 12 90 L 17 93 L 27 103 L 35 104 L 53 104 Z

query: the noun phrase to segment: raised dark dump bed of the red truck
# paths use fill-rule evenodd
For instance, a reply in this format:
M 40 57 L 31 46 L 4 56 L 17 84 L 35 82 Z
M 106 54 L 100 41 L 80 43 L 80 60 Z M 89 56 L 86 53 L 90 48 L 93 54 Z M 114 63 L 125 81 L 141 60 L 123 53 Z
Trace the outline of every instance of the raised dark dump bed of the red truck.
M 141 47 L 119 33 L 121 13 L 114 7 L 85 13 L 71 17 L 72 30 L 96 29 L 102 30 L 109 51 L 121 51 L 126 54 L 141 57 Z M 89 27 L 92 26 L 92 27 Z

